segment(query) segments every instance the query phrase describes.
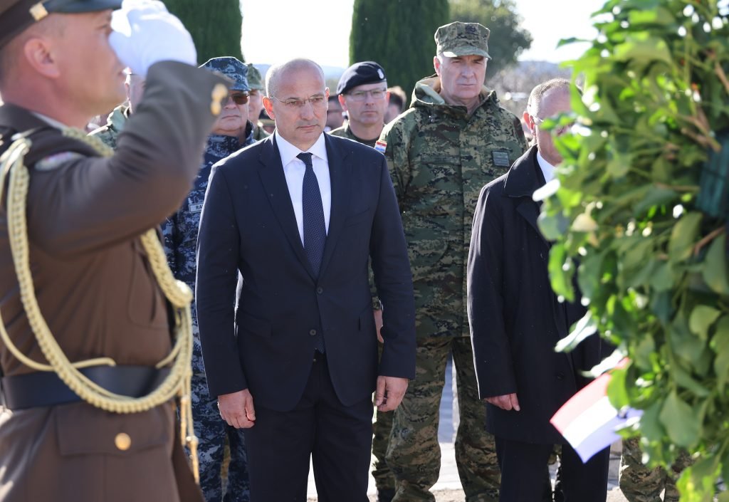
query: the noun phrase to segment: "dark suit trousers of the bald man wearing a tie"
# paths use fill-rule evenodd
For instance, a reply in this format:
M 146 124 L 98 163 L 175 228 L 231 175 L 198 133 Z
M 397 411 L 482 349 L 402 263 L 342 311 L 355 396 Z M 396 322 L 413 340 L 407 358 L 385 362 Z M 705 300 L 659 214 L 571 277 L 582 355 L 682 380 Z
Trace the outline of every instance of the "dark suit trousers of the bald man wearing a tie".
M 343 406 L 326 356 L 316 353 L 294 409 L 255 410 L 256 423 L 245 430 L 252 501 L 305 502 L 311 456 L 319 502 L 367 502 L 373 403 Z

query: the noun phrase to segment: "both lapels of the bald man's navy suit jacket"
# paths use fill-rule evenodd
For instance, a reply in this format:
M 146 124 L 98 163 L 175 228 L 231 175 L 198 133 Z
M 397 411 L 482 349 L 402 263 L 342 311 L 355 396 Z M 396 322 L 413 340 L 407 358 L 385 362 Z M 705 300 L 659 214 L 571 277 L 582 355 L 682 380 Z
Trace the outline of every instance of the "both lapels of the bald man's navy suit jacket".
M 328 134 L 324 134 L 324 143 L 327 146 L 327 161 L 329 163 L 329 176 L 332 187 L 332 206 L 329 220 L 329 232 L 327 242 L 324 245 L 324 257 L 321 259 L 319 278 L 324 277 L 327 271 L 327 264 L 332 258 L 337 241 L 339 239 L 344 220 L 346 219 L 346 205 L 351 190 L 351 177 L 348 176 L 348 166 L 345 159 L 348 151 L 342 149 L 336 142 L 332 141 Z M 273 212 L 278 223 L 286 235 L 286 239 L 293 247 L 297 258 L 305 267 L 311 279 L 317 282 L 311 265 L 301 244 L 294 206 L 289 196 L 289 186 L 286 184 L 284 166 L 281 164 L 281 155 L 278 153 L 276 139 L 273 135 L 268 136 L 263 142 L 260 154 L 259 174 L 263 187 L 268 195 Z

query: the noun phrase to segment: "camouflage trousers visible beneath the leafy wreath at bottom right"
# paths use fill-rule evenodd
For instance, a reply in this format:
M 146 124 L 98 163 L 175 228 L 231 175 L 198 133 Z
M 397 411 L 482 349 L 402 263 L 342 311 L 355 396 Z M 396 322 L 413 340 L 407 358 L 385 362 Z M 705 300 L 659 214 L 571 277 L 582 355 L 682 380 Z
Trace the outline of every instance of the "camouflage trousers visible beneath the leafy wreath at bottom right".
M 628 502 L 660 502 L 660 493 L 666 489 L 663 502 L 678 502 L 679 492 L 674 477 L 663 468 L 647 468 L 641 460 L 643 453 L 638 438 L 623 440 L 618 482 Z M 674 476 L 690 465 L 690 457 L 682 453 L 672 470 Z

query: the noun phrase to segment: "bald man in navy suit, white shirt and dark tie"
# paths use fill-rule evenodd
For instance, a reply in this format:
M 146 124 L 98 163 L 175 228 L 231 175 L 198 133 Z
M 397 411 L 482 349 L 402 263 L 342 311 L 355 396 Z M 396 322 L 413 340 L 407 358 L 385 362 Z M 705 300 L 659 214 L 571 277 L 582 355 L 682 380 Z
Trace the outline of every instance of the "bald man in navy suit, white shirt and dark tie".
M 214 166 L 200 220 L 208 386 L 223 420 L 246 429 L 252 499 L 304 501 L 311 455 L 320 501 L 364 502 L 373 390 L 378 410 L 394 409 L 415 373 L 397 201 L 383 155 L 323 134 L 319 65 L 274 66 L 266 92 L 276 133 Z M 379 365 L 370 259 L 384 312 Z

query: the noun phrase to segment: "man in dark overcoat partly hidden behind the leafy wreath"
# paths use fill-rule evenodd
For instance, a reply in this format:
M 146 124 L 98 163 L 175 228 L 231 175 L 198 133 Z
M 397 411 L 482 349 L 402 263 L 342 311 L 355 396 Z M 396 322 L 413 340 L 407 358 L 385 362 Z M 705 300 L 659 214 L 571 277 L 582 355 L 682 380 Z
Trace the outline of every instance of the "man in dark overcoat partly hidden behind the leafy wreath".
M 502 471 L 500 502 L 541 499 L 553 444 L 564 443 L 549 420 L 587 383 L 581 371 L 609 355 L 598 336 L 569 354 L 554 351 L 585 309 L 579 298 L 560 303 L 550 287 L 550 243 L 537 227 L 532 195 L 562 161 L 553 144 L 561 130 L 547 131 L 542 122 L 570 111 L 569 85 L 555 79 L 531 92 L 524 120 L 537 144 L 481 190 L 473 220 L 468 314 L 479 395 L 488 402 L 486 427 Z M 564 501 L 604 502 L 608 457 L 604 449 L 583 465 L 563 444 Z

